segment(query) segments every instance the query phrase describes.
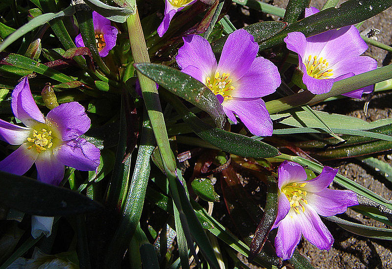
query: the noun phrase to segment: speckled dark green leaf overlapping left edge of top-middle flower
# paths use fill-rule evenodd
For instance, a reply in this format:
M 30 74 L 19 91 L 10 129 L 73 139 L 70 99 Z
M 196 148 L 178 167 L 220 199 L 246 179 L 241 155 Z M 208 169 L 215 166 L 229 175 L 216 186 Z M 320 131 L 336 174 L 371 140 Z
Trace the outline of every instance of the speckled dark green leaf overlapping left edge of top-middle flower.
M 207 112 L 219 128 L 223 127 L 225 115 L 218 98 L 200 81 L 172 67 L 149 63 L 135 64 L 135 67 L 165 89 Z

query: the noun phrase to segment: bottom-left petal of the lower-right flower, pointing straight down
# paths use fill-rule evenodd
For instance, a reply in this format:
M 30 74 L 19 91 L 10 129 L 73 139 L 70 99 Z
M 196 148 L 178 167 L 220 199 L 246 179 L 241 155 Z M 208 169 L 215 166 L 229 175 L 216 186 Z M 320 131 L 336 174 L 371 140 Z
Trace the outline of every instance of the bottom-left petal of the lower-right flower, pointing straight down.
M 298 225 L 293 222 L 294 210 L 291 210 L 279 223 L 278 232 L 275 237 L 276 255 L 281 257 L 282 260 L 288 260 L 293 255 L 295 247 L 301 239 L 301 232 Z M 295 213 L 294 213 L 295 214 Z

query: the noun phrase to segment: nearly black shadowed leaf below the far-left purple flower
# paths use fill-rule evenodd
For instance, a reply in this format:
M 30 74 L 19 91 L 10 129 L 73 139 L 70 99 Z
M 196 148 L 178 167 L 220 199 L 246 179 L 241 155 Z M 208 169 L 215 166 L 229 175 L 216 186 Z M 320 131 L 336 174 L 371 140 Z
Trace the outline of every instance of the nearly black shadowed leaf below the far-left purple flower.
M 103 209 L 97 202 L 69 189 L 5 172 L 0 172 L 0 176 L 0 204 L 27 214 L 62 216 Z

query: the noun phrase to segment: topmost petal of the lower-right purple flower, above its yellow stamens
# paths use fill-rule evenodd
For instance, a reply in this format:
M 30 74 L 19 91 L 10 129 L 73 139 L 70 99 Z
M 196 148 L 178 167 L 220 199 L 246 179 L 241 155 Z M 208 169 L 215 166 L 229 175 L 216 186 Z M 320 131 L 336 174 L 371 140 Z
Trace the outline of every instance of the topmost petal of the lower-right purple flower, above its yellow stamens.
M 278 168 L 278 187 L 281 190 L 290 183 L 306 180 L 305 169 L 293 161 L 285 160 Z

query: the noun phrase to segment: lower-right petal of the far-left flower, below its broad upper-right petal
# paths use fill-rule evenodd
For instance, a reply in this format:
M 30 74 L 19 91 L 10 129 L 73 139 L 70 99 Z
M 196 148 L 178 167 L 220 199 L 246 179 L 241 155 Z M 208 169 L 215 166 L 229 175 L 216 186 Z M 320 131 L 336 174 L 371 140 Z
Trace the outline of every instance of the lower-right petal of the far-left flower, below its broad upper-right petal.
M 75 138 L 61 145 L 58 160 L 81 171 L 92 171 L 99 165 L 99 149 L 83 138 Z

